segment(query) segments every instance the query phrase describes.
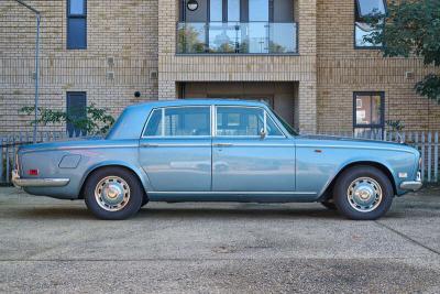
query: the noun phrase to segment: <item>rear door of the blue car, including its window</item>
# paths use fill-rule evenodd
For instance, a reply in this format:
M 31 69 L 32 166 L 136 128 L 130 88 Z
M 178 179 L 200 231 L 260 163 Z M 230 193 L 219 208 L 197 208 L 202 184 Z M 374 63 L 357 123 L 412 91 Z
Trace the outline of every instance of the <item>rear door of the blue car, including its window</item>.
M 154 109 L 139 159 L 154 192 L 210 192 L 211 107 Z

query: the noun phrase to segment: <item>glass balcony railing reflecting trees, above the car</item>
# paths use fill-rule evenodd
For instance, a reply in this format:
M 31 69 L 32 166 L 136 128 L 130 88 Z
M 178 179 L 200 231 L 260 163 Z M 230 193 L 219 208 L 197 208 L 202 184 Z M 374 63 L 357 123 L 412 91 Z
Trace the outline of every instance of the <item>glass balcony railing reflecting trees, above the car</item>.
M 179 22 L 178 54 L 296 54 L 296 23 Z

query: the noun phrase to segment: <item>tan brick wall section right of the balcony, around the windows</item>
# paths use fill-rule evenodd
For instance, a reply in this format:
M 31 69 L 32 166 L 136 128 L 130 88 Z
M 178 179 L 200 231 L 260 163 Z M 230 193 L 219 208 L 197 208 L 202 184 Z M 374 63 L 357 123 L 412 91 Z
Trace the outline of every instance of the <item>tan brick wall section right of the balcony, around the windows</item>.
M 385 91 L 385 120 L 406 130 L 440 129 L 440 106 L 419 97 L 414 85 L 432 68 L 416 58 L 383 58 L 354 50 L 354 2 L 318 0 L 318 129 L 351 131 L 353 91 Z M 407 79 L 406 72 L 415 77 Z

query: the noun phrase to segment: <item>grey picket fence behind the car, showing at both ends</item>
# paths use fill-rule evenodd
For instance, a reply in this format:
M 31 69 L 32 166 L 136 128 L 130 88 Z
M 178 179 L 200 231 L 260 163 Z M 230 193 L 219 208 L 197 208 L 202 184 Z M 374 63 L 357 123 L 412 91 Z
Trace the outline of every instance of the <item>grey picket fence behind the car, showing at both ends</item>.
M 425 182 L 439 181 L 439 131 L 436 132 L 377 132 L 355 134 L 352 132 L 326 132 L 326 135 L 359 138 L 369 140 L 405 142 L 418 149 L 422 157 L 421 176 Z M 75 140 L 65 132 L 40 132 L 38 142 L 52 142 L 58 140 Z M 11 171 L 15 165 L 16 150 L 21 145 L 31 144 L 31 132 L 18 134 L 0 134 L 0 184 L 11 183 Z

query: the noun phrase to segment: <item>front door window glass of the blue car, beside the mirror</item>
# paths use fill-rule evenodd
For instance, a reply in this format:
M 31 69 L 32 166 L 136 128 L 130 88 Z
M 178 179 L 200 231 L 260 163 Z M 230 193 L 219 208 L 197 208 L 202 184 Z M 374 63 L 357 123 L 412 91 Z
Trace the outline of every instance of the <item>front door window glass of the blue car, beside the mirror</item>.
M 217 135 L 260 137 L 262 130 L 267 135 L 283 135 L 272 118 L 261 108 L 217 108 Z

